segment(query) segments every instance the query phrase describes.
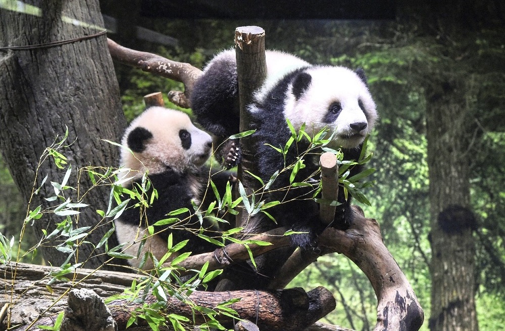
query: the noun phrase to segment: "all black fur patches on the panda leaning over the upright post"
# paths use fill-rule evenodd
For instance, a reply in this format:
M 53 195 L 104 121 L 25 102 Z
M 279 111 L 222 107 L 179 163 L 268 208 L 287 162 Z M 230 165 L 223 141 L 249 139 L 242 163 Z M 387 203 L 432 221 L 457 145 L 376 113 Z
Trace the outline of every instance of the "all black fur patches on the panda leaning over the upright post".
M 283 114 L 285 93 L 292 86 L 291 92 L 296 99 L 299 99 L 312 82 L 312 77 L 306 72 L 308 67 L 302 67 L 286 74 L 281 78 L 275 87 L 273 87 L 268 95 L 264 98 L 267 104 L 256 105 L 258 112 L 252 114 L 254 125 L 257 128 L 254 138 L 259 141 L 257 146 L 257 155 L 255 157 L 257 169 L 260 171 L 260 177 L 268 182 L 271 175 L 285 165 L 290 165 L 295 162 L 297 154 L 294 146 L 289 150 L 284 163 L 283 156 L 266 146 L 271 144 L 275 147 L 283 148 L 291 133 L 287 127 L 286 119 Z M 361 79 L 366 80 L 365 73 L 362 69 L 357 70 L 357 74 Z M 337 103 L 338 104 L 338 103 Z M 325 116 L 328 116 L 327 122 L 333 122 L 341 110 L 341 106 L 332 104 Z M 239 109 L 238 109 L 238 86 L 236 63 L 233 59 L 228 58 L 223 61 L 215 61 L 210 66 L 203 76 L 201 76 L 194 85 L 191 95 L 191 106 L 197 121 L 214 135 L 220 137 L 220 142 L 228 136 L 238 133 L 239 131 Z M 331 107 L 335 106 L 335 111 L 332 112 Z M 331 118 L 330 118 L 331 117 Z M 237 145 L 238 141 L 233 144 Z M 230 146 L 228 144 L 227 146 Z M 308 141 L 302 140 L 298 143 L 300 152 L 309 148 Z M 223 151 L 218 151 L 219 159 L 224 160 L 227 167 L 237 165 L 240 162 L 240 151 L 233 150 L 231 158 L 228 155 L 228 148 Z M 361 154 L 361 146 L 344 151 L 345 160 L 356 160 Z M 228 157 L 227 157 L 228 156 Z M 235 158 L 235 160 L 233 160 Z M 228 160 L 228 162 L 226 162 Z M 231 160 L 231 161 L 230 161 Z M 219 160 L 221 161 L 221 160 Z M 313 172 L 318 169 L 317 163 L 313 160 L 305 161 L 306 168 L 298 172 L 297 178 L 300 180 L 308 178 Z M 359 167 L 351 169 L 351 176 L 360 172 Z M 287 186 L 289 184 L 290 172 L 281 174 L 271 190 Z M 346 228 L 350 224 L 351 213 L 349 201 L 345 201 L 343 189 L 339 192 L 338 201 L 341 203 L 337 208 L 335 222 L 333 226 L 338 228 Z M 298 246 L 304 249 L 314 247 L 317 234 L 323 230 L 319 222 L 318 212 L 319 205 L 311 200 L 311 190 L 307 187 L 298 187 L 289 191 L 285 200 L 294 198 L 304 199 L 295 202 L 285 203 L 272 209 L 272 213 L 280 225 L 293 226 L 296 231 L 307 231 L 306 234 L 295 234 L 291 236 L 294 247 Z M 283 200 L 283 193 L 273 193 L 269 200 Z M 300 217 L 305 215 L 303 217 Z M 297 220 L 293 224 L 293 220 Z M 263 230 L 276 227 L 273 222 L 265 222 L 268 225 Z

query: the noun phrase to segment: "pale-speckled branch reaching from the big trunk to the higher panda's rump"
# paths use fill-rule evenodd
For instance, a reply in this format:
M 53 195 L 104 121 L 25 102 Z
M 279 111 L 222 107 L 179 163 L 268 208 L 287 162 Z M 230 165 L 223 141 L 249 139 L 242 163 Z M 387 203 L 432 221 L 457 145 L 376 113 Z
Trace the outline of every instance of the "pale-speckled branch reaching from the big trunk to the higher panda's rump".
M 156 54 L 128 49 L 111 39 L 107 39 L 107 43 L 111 57 L 114 60 L 182 82 L 185 86 L 184 92 L 170 91 L 168 98 L 180 107 L 190 108 L 189 96 L 191 95 L 194 82 L 201 75 L 200 69 L 193 67 L 189 63 L 176 62 Z

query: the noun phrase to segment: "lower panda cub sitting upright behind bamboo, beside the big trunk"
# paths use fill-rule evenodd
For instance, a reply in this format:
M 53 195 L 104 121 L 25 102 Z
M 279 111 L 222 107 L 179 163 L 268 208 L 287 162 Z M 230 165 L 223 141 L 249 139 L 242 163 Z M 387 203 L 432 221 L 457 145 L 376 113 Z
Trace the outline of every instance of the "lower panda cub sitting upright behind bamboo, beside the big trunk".
M 212 151 L 211 136 L 198 129 L 191 123 L 188 115 L 183 112 L 163 107 L 150 107 L 134 119 L 126 129 L 121 144 L 127 149 L 121 149 L 121 165 L 131 169 L 122 176 L 127 180 L 123 186 L 131 188 L 141 184 L 142 177 L 147 174 L 151 187 L 147 199 L 153 192 L 153 187 L 158 192 L 158 199 L 145 209 L 141 215 L 140 208 L 134 206 L 138 201 L 131 200 L 127 209 L 115 221 L 116 235 L 119 243 L 126 245 L 126 253 L 137 256 L 143 235 L 147 234 L 146 226 L 170 217 L 178 217 L 181 221 L 175 229 L 167 226 L 155 226 L 157 234 L 149 237 L 137 259 L 128 260 L 130 265 L 139 267 L 144 254 L 149 251 L 160 260 L 167 253 L 167 239 L 173 235 L 174 245 L 183 240 L 189 243 L 183 251 L 193 254 L 210 252 L 215 247 L 209 242 L 200 239 L 194 233 L 183 229 L 189 228 L 194 232 L 211 230 L 212 224 L 203 218 L 203 223 L 194 215 L 192 203 L 202 206 L 204 210 L 204 195 L 206 201 L 211 201 L 214 194 L 206 193 L 210 169 L 205 166 Z M 218 190 L 224 190 L 230 173 L 219 172 L 212 176 Z M 121 178 L 120 178 L 121 179 Z M 207 203 L 208 205 L 208 203 Z M 187 208 L 189 212 L 176 216 L 166 216 L 167 213 Z M 205 206 L 207 210 L 207 206 Z M 205 211 L 204 210 L 204 211 Z M 202 230 L 203 229 L 203 230 Z M 208 235 L 215 233 L 206 231 Z M 136 243 L 131 245 L 132 243 Z M 153 263 L 146 260 L 143 269 L 150 269 Z

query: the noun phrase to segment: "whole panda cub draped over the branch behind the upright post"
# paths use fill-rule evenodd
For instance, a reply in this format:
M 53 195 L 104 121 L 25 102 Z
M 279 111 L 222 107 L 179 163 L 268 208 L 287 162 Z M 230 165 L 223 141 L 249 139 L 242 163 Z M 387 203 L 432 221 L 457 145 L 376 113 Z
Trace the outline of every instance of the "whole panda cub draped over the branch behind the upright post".
M 377 119 L 376 106 L 363 70 L 311 65 L 293 55 L 276 51 L 266 52 L 266 62 L 266 81 L 248 106 L 253 118 L 251 128 L 256 129 L 252 138 L 257 141 L 255 162 L 262 180 L 267 182 L 275 171 L 292 164 L 298 157 L 294 146 L 284 159 L 282 154 L 266 145 L 281 149 L 285 146 L 291 136 L 286 119 L 296 130 L 305 123 L 309 135 L 327 128 L 332 134 L 328 147 L 341 148 L 344 160 L 357 160 L 363 141 Z M 223 139 L 239 131 L 237 90 L 234 50 L 224 51 L 211 60 L 194 85 L 191 105 L 197 121 Z M 309 141 L 302 139 L 297 150 L 306 151 L 309 146 Z M 229 148 L 229 153 L 222 152 L 222 157 L 226 166 L 234 166 L 240 161 L 238 141 L 232 141 Z M 305 165 L 297 178 L 310 178 L 319 167 L 312 160 L 305 160 Z M 355 166 L 349 176 L 360 171 Z M 308 232 L 292 235 L 291 241 L 293 246 L 310 248 L 314 246 L 317 233 L 323 229 L 320 222 L 314 223 L 319 207 L 307 199 L 311 191 L 307 188 L 275 193 L 276 189 L 289 186 L 289 176 L 289 171 L 281 173 L 270 188 L 273 193 L 269 200 L 288 201 L 272 208 L 272 214 L 280 225 Z M 338 201 L 341 205 L 332 225 L 345 228 L 351 223 L 352 213 L 343 188 L 339 190 Z M 276 226 L 270 223 L 264 230 Z

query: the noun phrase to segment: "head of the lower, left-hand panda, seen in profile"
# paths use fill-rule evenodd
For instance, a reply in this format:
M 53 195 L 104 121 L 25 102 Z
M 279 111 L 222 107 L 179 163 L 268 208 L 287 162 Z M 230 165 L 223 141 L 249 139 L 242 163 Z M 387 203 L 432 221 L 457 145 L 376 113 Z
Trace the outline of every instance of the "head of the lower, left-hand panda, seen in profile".
M 191 123 L 188 115 L 173 109 L 150 107 L 126 129 L 121 150 L 121 165 L 143 173 L 158 174 L 170 168 L 176 172 L 191 171 L 210 157 L 211 136 Z

